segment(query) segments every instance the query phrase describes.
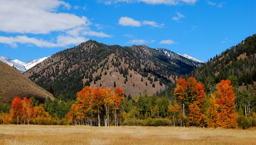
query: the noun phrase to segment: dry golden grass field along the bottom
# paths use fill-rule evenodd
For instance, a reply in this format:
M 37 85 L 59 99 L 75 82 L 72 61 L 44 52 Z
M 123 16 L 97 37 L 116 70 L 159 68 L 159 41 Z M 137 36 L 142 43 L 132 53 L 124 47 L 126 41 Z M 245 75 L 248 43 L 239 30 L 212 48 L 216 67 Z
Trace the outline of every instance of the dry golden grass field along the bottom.
M 0 144 L 255 144 L 256 129 L 0 125 Z

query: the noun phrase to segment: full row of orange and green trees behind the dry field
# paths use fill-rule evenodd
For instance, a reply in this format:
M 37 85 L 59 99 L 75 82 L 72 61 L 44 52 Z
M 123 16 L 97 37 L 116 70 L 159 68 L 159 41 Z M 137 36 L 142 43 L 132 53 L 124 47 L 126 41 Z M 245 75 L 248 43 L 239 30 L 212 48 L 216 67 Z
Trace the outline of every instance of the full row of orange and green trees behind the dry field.
M 73 124 L 90 126 L 197 126 L 247 128 L 256 126 L 256 86 L 238 90 L 237 78 L 204 85 L 194 77 L 179 78 L 173 91 L 126 97 L 116 87 L 113 92 L 85 86 L 76 101 L 63 96 L 44 104 L 34 98 L 15 97 L 12 108 L 0 105 L 2 124 Z M 169 91 L 168 91 L 169 90 Z

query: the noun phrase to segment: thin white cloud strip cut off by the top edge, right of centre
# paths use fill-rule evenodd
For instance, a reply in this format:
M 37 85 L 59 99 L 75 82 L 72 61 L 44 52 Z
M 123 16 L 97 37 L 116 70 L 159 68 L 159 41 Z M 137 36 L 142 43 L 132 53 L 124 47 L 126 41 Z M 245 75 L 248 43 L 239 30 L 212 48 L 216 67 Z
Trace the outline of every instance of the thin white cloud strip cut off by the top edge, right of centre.
M 177 4 L 195 4 L 197 0 L 101 0 L 106 5 L 116 4 L 119 2 L 123 3 L 146 3 L 146 4 L 165 4 L 165 5 L 177 5 Z

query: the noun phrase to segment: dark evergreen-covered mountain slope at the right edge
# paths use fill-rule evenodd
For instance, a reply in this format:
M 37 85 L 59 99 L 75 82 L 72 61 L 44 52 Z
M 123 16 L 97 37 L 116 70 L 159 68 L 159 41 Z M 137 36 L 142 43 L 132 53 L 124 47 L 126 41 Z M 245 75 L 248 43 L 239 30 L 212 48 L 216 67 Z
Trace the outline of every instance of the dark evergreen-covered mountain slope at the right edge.
M 191 72 L 191 75 L 202 82 L 209 76 L 215 83 L 236 76 L 239 86 L 256 83 L 256 34 L 211 58 L 203 67 Z

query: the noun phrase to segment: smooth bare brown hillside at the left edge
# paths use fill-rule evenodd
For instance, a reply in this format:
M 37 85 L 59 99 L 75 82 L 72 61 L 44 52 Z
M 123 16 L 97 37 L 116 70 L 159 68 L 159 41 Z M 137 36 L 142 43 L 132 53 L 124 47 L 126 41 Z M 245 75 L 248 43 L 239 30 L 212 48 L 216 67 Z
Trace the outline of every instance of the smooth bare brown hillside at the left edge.
M 11 104 L 14 96 L 34 96 L 40 102 L 53 95 L 23 76 L 13 67 L 0 61 L 0 103 Z

